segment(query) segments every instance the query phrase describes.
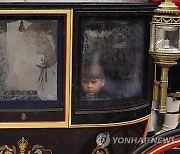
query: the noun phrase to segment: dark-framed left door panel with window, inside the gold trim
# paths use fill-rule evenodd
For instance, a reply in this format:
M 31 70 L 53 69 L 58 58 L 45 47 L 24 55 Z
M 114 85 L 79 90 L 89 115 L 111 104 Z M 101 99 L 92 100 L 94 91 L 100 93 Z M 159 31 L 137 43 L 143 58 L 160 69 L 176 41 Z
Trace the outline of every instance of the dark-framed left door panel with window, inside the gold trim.
M 29 121 L 64 121 L 65 21 L 64 14 L 1 16 L 1 110 L 27 113 Z

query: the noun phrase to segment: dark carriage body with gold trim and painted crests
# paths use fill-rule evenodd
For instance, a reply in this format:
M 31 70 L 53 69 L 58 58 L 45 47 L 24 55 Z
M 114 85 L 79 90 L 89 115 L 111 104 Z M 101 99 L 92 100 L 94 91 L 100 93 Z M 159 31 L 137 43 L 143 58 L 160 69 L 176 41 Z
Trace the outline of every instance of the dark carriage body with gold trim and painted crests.
M 0 98 L 3 149 L 8 150 L 8 146 L 11 152 L 14 149 L 20 152 L 20 143 L 26 143 L 25 153 L 36 150 L 53 154 L 131 153 L 137 144 L 121 144 L 120 139 L 133 137 L 140 141 L 147 131 L 153 83 L 150 22 L 156 6 L 148 0 L 0 3 L 0 20 L 7 20 L 6 24 L 16 21 L 32 24 L 39 20 L 58 23 L 57 99 L 42 101 L 37 91 L 28 91 L 26 95 L 32 100 L 23 100 L 23 91 L 11 91 L 8 96 L 22 96 L 14 101 L 5 99 L 3 93 L 4 98 Z M 3 26 L 0 33 L 1 30 L 5 31 Z M 84 101 L 81 73 L 87 59 L 94 60 L 92 53 L 99 55 L 100 59 L 95 57 L 104 66 L 103 88 L 108 97 Z M 101 135 L 110 139 L 104 148 L 97 143 Z

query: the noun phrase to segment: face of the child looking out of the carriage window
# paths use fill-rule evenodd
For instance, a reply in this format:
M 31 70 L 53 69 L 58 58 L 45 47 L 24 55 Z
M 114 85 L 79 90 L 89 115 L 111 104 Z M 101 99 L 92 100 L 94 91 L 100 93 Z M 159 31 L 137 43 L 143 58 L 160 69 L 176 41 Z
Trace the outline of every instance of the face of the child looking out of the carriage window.
M 94 96 L 99 93 L 104 83 L 104 79 L 82 79 L 81 81 L 82 88 L 88 96 Z

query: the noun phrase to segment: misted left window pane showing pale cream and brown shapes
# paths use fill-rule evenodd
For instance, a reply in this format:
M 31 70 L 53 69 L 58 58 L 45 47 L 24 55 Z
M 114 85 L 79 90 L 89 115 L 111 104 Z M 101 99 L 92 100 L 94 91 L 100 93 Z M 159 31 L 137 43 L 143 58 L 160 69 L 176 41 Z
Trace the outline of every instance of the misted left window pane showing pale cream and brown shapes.
M 57 100 L 57 21 L 6 20 L 0 26 L 0 99 Z

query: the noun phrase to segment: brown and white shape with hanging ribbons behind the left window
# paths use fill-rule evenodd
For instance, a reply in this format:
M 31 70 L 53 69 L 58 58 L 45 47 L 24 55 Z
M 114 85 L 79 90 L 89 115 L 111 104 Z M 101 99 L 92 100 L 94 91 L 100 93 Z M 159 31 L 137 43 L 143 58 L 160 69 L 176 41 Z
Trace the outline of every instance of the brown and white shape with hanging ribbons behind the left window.
M 40 70 L 37 94 L 41 100 L 57 100 L 57 22 L 32 23 L 24 32 L 28 45 L 42 57 L 36 62 Z

